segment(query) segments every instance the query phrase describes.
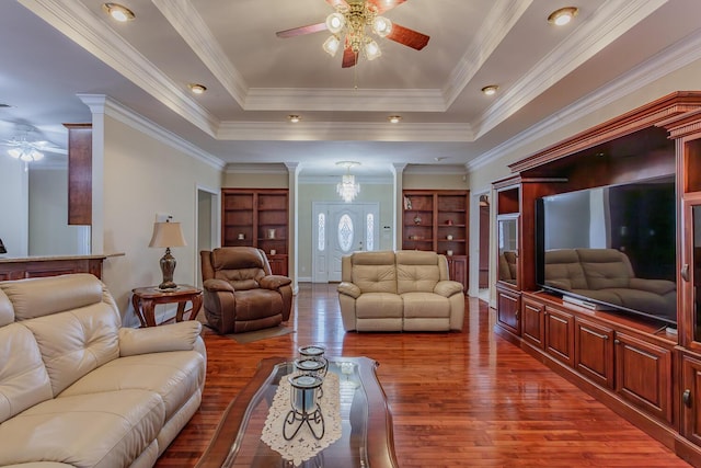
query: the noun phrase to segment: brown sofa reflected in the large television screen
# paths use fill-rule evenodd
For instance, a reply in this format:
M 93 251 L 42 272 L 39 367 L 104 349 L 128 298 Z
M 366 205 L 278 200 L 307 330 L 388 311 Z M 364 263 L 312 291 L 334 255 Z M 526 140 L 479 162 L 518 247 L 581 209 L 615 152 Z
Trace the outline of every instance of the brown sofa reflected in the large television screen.
M 636 277 L 628 255 L 616 249 L 549 250 L 544 269 L 545 285 L 676 319 L 676 284 Z

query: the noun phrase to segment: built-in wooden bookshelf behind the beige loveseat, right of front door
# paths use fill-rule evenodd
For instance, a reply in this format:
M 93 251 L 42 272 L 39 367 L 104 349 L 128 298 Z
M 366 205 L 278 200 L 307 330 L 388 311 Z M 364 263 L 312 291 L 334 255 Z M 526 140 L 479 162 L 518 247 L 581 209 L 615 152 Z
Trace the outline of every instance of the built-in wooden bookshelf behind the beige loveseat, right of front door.
M 402 249 L 448 256 L 450 278 L 468 288 L 470 192 L 405 190 Z

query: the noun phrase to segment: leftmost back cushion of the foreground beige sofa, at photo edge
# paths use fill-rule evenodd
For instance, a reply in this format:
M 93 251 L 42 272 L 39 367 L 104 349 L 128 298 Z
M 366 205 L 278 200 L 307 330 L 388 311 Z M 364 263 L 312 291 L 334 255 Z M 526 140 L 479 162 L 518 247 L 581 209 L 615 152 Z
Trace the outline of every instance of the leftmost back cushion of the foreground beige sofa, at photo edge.
M 0 423 L 53 396 L 32 332 L 20 323 L 0 328 Z

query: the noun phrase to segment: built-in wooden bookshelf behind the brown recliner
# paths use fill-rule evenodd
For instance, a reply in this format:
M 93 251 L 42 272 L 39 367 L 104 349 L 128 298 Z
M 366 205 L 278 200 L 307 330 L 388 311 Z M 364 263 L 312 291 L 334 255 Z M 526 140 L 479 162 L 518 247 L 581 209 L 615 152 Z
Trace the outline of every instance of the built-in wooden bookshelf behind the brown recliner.
M 221 244 L 263 249 L 274 274 L 287 275 L 289 195 L 286 189 L 222 189 Z

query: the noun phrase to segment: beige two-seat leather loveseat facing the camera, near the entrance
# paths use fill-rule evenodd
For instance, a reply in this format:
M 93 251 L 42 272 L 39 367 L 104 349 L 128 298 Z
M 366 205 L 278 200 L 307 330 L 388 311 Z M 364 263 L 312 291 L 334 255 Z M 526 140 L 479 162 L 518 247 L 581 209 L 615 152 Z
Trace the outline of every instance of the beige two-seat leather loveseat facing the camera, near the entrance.
M 357 331 L 462 330 L 464 294 L 435 252 L 354 252 L 342 260 L 343 327 Z

